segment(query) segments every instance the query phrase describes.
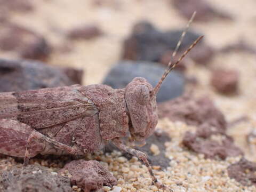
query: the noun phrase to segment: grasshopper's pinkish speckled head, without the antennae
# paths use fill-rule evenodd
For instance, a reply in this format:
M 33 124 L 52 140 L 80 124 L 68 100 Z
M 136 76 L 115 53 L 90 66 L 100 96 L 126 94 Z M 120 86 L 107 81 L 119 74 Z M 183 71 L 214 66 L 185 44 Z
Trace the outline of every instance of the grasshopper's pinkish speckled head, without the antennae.
M 153 134 L 157 124 L 156 95 L 153 86 L 143 77 L 135 77 L 125 87 L 125 101 L 131 121 L 133 140 L 145 141 Z

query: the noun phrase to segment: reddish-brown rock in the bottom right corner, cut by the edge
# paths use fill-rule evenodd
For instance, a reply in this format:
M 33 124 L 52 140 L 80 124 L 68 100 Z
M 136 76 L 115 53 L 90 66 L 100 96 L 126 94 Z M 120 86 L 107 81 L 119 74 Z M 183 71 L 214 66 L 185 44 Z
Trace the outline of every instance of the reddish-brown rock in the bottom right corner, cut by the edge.
M 256 163 L 241 158 L 228 166 L 228 176 L 244 186 L 256 186 Z

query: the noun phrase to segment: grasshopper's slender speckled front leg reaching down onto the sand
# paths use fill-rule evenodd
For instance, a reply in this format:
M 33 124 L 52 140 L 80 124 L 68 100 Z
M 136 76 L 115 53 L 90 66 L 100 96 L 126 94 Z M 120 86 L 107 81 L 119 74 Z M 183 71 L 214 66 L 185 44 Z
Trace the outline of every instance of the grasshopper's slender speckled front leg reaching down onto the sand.
M 168 191 L 173 191 L 172 189 L 167 188 L 165 185 L 163 185 L 161 182 L 159 182 L 157 180 L 157 178 L 155 177 L 155 175 L 153 173 L 153 169 L 152 169 L 151 165 L 148 162 L 147 155 L 145 153 L 143 153 L 142 151 L 135 150 L 135 149 L 132 149 L 132 148 L 129 148 L 129 147 L 125 146 L 119 138 L 113 139 L 112 142 L 114 143 L 114 145 L 118 149 L 123 150 L 126 153 L 129 153 L 133 156 L 138 157 L 147 166 L 147 169 L 150 173 L 150 176 L 151 176 L 153 182 L 155 183 L 155 185 L 157 186 L 157 188 L 163 189 L 163 190 L 168 190 Z

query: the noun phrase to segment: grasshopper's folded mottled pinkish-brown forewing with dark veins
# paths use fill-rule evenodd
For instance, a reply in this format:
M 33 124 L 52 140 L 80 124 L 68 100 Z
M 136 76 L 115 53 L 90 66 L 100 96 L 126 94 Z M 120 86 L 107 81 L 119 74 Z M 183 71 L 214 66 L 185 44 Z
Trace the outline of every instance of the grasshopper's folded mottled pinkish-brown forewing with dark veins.
M 81 85 L 0 93 L 0 119 L 15 119 L 34 129 L 45 128 L 98 113 Z

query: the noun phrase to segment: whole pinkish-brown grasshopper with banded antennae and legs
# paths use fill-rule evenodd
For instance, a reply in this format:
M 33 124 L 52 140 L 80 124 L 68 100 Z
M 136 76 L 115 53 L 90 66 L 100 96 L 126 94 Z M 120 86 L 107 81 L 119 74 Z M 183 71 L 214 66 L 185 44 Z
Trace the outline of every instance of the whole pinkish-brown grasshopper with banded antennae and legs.
M 172 58 L 186 34 L 183 31 Z M 24 157 L 24 165 L 37 154 L 85 155 L 100 150 L 108 141 L 137 156 L 148 168 L 158 188 L 159 182 L 147 155 L 124 145 L 130 134 L 144 142 L 157 124 L 156 95 L 165 77 L 202 39 L 196 39 L 176 62 L 169 62 L 162 78 L 153 87 L 136 77 L 124 89 L 110 86 L 72 85 L 40 90 L 0 93 L 0 153 Z

